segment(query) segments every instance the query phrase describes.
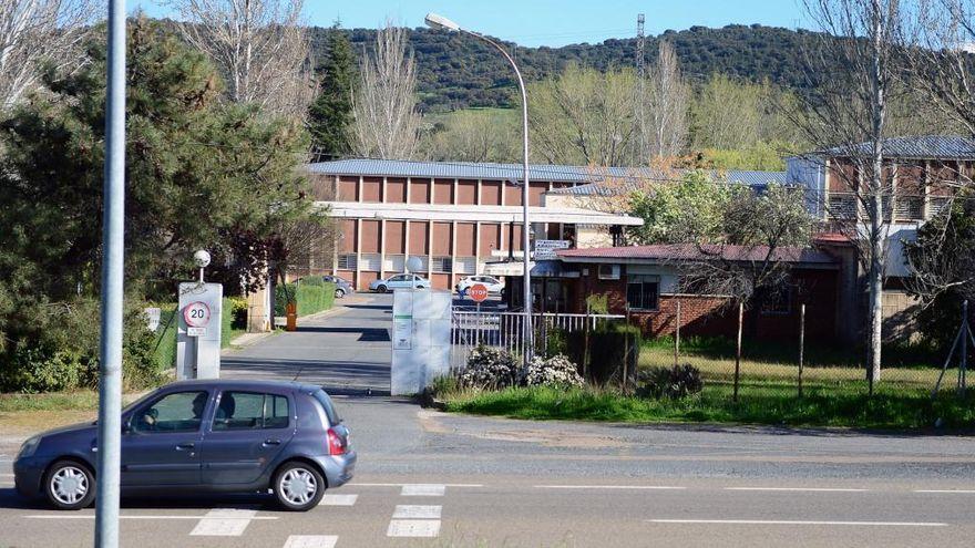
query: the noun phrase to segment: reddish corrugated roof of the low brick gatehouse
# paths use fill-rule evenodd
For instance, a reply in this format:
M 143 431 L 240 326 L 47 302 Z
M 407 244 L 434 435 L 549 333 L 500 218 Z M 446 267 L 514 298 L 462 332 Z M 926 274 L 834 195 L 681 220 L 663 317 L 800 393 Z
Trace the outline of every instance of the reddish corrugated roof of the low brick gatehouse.
M 563 249 L 558 257 L 565 259 L 636 259 L 636 260 L 708 260 L 761 261 L 769 254 L 768 246 L 721 246 L 674 244 L 655 246 L 599 247 L 589 249 Z M 805 247 L 778 247 L 772 251 L 772 260 L 831 265 L 835 260 L 829 255 Z

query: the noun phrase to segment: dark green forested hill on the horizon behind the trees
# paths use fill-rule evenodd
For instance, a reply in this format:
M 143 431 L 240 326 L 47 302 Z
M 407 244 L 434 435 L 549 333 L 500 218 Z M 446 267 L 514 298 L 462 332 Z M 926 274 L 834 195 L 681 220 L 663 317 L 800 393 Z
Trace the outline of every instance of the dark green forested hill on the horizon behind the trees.
M 312 29 L 312 46 L 319 62 L 325 58 L 328 31 Z M 342 32 L 349 34 L 360 55 L 371 48 L 376 34 L 374 29 Z M 783 87 L 802 89 L 805 81 L 800 43 L 809 37 L 807 31 L 758 24 L 722 29 L 692 27 L 648 38 L 647 61 L 655 60 L 658 41 L 667 40 L 680 59 L 681 70 L 691 80 L 721 72 L 751 81 L 769 79 Z M 489 45 L 463 34 L 429 29 L 410 31 L 410 42 L 417 56 L 418 85 L 424 110 L 510 104 L 514 86 L 511 69 Z M 633 66 L 635 51 L 636 39 L 614 39 L 599 44 L 517 48 L 516 55 L 525 77 L 533 80 L 557 73 L 572 62 L 601 70 Z

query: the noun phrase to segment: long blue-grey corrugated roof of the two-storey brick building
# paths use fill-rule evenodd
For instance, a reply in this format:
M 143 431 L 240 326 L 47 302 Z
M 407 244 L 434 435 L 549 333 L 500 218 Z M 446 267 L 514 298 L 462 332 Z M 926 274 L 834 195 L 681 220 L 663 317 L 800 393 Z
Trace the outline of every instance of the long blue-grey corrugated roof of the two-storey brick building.
M 415 162 L 402 159 L 349 158 L 310 164 L 312 173 L 324 175 L 387 176 L 387 177 L 443 177 L 459 179 L 521 180 L 521 164 L 492 164 L 473 162 Z M 588 184 L 617 179 L 669 179 L 681 176 L 684 170 L 663 172 L 650 167 L 597 167 L 532 164 L 528 177 L 533 180 Z M 710 172 L 714 177 L 740 182 L 746 185 L 766 185 L 772 180 L 784 182 L 784 172 Z

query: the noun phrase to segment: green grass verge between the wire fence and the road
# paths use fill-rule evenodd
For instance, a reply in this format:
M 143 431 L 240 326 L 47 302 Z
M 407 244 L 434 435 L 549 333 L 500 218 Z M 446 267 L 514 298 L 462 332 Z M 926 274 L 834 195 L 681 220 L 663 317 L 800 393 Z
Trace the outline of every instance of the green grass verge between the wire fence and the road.
M 682 400 L 623 396 L 598 389 L 516 387 L 444 395 L 448 411 L 531 420 L 628 423 L 740 423 L 878 430 L 975 428 L 975 396 L 932 401 L 923 391 L 865 391 L 810 386 L 804 397 L 776 384 L 750 385 L 738 402 L 727 385 L 706 385 Z

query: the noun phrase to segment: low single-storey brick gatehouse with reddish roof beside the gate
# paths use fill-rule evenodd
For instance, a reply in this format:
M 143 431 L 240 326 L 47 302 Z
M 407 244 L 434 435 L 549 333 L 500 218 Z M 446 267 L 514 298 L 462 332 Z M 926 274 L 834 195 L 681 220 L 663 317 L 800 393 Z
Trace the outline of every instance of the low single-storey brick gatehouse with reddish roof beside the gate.
M 682 261 L 737 261 L 747 268 L 768 254 L 767 248 L 726 246 L 714 257 L 694 245 L 634 246 L 573 249 L 558 252 L 565 271 L 568 312 L 584 313 L 586 297 L 606 296 L 610 313 L 625 313 L 653 337 L 670 335 L 677 324 L 680 303 L 681 334 L 733 335 L 736 311 L 723 296 L 688 292 L 680 283 Z M 709 251 L 710 252 L 710 251 Z M 841 316 L 849 300 L 844 286 L 843 258 L 824 251 L 779 248 L 774 259 L 789 266 L 789 280 L 782 292 L 748 307 L 745 331 L 766 339 L 792 338 L 799 331 L 800 304 L 805 304 L 807 337 L 842 339 L 851 328 Z

